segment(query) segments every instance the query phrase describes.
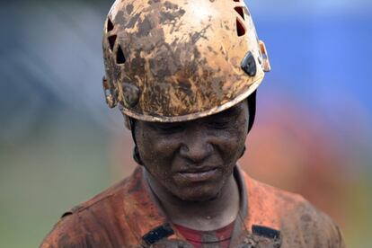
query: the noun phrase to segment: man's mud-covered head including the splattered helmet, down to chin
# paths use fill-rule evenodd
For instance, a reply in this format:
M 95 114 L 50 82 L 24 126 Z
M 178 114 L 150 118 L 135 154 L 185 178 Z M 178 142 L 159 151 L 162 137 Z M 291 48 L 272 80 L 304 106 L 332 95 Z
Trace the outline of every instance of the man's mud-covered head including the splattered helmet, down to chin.
M 103 50 L 106 101 L 136 123 L 138 162 L 179 198 L 215 197 L 270 71 L 244 1 L 117 0 Z

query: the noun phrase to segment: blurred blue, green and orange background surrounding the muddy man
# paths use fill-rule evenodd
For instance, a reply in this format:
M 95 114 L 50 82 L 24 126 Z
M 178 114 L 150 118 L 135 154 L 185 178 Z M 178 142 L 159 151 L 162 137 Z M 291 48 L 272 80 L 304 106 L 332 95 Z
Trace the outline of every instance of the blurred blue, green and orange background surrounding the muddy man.
M 272 72 L 240 164 L 326 211 L 349 247 L 370 247 L 372 3 L 246 3 Z M 0 247 L 37 247 L 64 211 L 134 167 L 102 94 L 111 4 L 0 2 Z

